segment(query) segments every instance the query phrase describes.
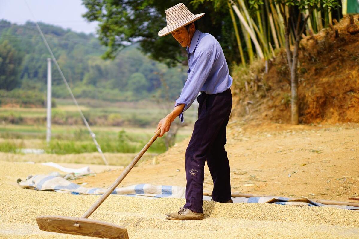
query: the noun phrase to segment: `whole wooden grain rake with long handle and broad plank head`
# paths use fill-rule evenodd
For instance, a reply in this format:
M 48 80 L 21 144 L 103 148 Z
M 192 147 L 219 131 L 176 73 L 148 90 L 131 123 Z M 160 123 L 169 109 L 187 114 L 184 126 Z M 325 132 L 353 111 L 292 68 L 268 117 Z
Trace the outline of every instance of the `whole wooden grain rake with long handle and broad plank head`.
M 149 142 L 141 149 L 131 163 L 125 168 L 121 175 L 116 179 L 108 190 L 81 216 L 81 218 L 69 216 L 38 216 L 37 225 L 40 230 L 56 233 L 66 233 L 81 236 L 95 236 L 101 238 L 128 239 L 126 228 L 104 221 L 88 219 L 89 216 L 107 199 L 107 197 L 122 182 L 123 178 L 131 171 L 135 164 L 140 160 L 143 154 L 158 138 L 161 129 L 159 129 Z

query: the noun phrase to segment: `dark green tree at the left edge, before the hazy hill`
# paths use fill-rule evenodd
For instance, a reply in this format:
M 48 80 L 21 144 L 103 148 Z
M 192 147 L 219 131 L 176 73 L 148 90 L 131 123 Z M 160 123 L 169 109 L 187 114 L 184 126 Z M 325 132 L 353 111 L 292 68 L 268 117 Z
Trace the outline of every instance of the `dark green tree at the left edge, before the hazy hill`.
M 12 90 L 19 83 L 21 57 L 8 40 L 0 44 L 0 89 Z

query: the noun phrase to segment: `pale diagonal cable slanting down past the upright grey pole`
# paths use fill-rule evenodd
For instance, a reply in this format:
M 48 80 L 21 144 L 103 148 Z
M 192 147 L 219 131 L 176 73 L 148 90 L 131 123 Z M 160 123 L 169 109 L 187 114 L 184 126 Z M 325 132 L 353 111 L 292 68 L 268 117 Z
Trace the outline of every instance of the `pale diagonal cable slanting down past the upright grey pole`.
M 39 30 L 39 33 L 41 34 L 42 39 L 44 40 L 44 43 L 45 43 L 45 45 L 46 45 L 46 48 L 48 49 L 48 51 L 49 51 L 50 54 L 51 54 L 51 57 L 52 57 L 53 62 L 55 62 L 55 65 L 56 65 L 57 70 L 59 70 L 59 72 L 60 72 L 60 75 L 61 75 L 62 80 L 64 80 L 64 83 L 65 83 L 65 85 L 66 85 L 67 90 L 70 92 L 70 95 L 71 95 L 72 100 L 74 101 L 75 105 L 77 106 L 77 109 L 79 110 L 79 113 L 80 113 L 80 115 L 81 115 L 82 120 L 84 121 L 84 123 L 85 123 L 85 125 L 86 125 L 88 131 L 90 132 L 90 135 L 91 135 L 91 137 L 92 137 L 92 140 L 93 140 L 93 142 L 94 142 L 95 145 L 96 145 L 97 151 L 101 154 L 102 159 L 103 159 L 103 161 L 105 162 L 105 164 L 108 165 L 107 160 L 106 160 L 106 158 L 105 158 L 105 156 L 104 156 L 104 154 L 103 154 L 103 152 L 102 152 L 102 150 L 101 150 L 101 147 L 100 147 L 100 145 L 97 143 L 96 135 L 92 132 L 92 130 L 91 130 L 91 128 L 90 128 L 90 125 L 87 123 L 87 120 L 86 120 L 84 114 L 82 113 L 82 111 L 81 111 L 81 109 L 80 109 L 80 106 L 79 106 L 79 104 L 77 103 L 77 101 L 76 101 L 76 99 L 75 99 L 75 96 L 74 96 L 74 94 L 72 93 L 71 88 L 70 88 L 69 84 L 67 83 L 66 78 L 65 78 L 64 74 L 62 73 L 59 64 L 58 64 L 57 61 L 56 61 L 56 58 L 55 58 L 55 56 L 53 55 L 53 53 L 52 53 L 52 51 L 51 51 L 51 48 L 50 48 L 50 46 L 48 45 L 47 40 L 46 40 L 44 34 L 42 33 L 41 28 L 39 27 L 39 24 L 37 24 L 36 18 L 35 18 L 35 16 L 33 15 L 33 13 L 32 13 L 32 11 L 31 11 L 29 5 L 27 4 L 27 1 L 26 1 L 26 0 L 24 0 L 24 1 L 25 1 L 25 4 L 26 4 L 27 8 L 29 9 L 29 11 L 30 11 L 32 17 L 33 17 L 34 20 L 35 20 L 36 27 L 37 27 L 37 29 Z

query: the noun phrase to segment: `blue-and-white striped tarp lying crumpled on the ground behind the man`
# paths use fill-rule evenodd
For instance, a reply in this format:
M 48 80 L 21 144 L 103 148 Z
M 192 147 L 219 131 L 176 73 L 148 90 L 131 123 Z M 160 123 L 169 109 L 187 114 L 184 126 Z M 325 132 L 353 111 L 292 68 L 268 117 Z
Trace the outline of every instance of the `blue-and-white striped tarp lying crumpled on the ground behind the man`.
M 20 181 L 19 186 L 23 188 L 30 188 L 34 190 L 50 190 L 56 192 L 65 192 L 75 195 L 87 194 L 87 195 L 101 195 L 107 189 L 99 187 L 83 187 L 62 177 L 56 177 L 52 175 L 35 175 L 26 181 Z M 111 194 L 132 196 L 132 197 L 147 197 L 147 198 L 159 198 L 159 197 L 174 197 L 185 198 L 185 187 L 178 186 L 166 186 L 166 185 L 150 185 L 150 184 L 136 184 L 128 187 L 118 187 Z M 203 200 L 210 200 L 210 196 L 203 196 Z M 308 200 L 307 198 L 288 198 L 288 197 L 233 197 L 234 203 L 274 203 L 282 205 L 293 206 L 322 206 L 322 207 L 335 207 L 341 209 L 359 210 L 359 207 L 353 206 L 339 206 L 339 205 L 325 205 L 318 202 Z

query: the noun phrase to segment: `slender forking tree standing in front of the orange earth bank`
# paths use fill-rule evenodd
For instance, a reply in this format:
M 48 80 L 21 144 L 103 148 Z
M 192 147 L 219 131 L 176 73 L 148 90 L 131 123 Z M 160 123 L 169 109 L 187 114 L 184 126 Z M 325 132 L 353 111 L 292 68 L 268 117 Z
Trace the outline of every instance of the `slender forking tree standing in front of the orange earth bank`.
M 299 102 L 298 102 L 298 49 L 299 41 L 306 28 L 307 21 L 313 10 L 321 10 L 322 8 L 334 9 L 339 5 L 338 0 L 274 0 L 280 9 L 283 16 L 283 23 L 285 28 L 285 50 L 287 54 L 287 61 L 290 69 L 291 82 L 291 115 L 292 124 L 299 123 Z M 306 15 L 303 16 L 304 12 Z M 304 17 L 304 18 L 303 18 Z M 294 48 L 290 49 L 290 32 L 294 35 Z

